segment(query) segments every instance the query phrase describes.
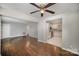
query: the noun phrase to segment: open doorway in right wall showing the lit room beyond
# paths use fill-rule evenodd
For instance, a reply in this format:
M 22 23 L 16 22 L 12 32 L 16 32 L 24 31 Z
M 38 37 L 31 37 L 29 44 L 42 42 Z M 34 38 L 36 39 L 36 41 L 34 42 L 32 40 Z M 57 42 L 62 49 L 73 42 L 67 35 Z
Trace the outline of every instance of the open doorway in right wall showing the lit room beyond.
M 47 21 L 48 23 L 48 40 L 47 43 L 55 46 L 62 46 L 62 19 Z

